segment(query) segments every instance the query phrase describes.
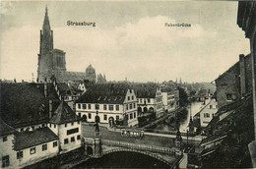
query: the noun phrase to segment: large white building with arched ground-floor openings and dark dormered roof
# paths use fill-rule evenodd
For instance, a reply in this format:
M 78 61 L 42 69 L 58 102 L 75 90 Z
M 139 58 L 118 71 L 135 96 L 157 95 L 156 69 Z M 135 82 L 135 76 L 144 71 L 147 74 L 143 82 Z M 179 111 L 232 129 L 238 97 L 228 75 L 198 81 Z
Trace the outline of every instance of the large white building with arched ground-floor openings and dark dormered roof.
M 96 84 L 88 88 L 76 102 L 76 113 L 87 122 L 123 123 L 125 126 L 138 124 L 137 97 L 126 84 Z

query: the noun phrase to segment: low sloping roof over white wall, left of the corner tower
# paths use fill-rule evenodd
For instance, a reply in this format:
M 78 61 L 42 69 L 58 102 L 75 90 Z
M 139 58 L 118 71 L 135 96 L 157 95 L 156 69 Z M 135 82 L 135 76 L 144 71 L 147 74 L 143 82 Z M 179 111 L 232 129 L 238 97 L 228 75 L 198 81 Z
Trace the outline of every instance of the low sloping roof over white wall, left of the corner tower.
M 26 131 L 15 135 L 14 149 L 22 150 L 49 141 L 57 141 L 58 137 L 47 127 Z

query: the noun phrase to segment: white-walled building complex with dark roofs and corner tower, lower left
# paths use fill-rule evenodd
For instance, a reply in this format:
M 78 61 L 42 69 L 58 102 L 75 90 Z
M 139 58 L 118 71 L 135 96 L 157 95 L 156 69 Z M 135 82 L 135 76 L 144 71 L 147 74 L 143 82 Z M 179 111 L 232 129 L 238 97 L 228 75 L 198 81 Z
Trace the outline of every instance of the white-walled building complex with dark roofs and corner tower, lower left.
M 81 118 L 54 84 L 0 85 L 2 168 L 23 168 L 81 146 Z

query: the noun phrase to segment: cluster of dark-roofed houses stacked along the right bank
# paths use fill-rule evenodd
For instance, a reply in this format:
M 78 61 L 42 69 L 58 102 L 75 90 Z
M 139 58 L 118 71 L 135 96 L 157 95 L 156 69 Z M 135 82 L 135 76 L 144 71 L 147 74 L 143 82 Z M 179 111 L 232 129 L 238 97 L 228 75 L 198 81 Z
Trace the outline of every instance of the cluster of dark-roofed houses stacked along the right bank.
M 216 94 L 199 113 L 207 138 L 188 152 L 188 167 L 252 167 L 252 57 L 239 55 L 216 80 Z

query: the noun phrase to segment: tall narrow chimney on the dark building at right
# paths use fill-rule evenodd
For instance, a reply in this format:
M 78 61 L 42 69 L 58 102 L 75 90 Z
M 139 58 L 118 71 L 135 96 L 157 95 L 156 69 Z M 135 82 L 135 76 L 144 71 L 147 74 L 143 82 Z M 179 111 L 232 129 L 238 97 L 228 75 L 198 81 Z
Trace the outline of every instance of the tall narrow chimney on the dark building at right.
M 241 97 L 246 93 L 246 80 L 245 80 L 245 60 L 244 55 L 239 55 L 239 70 L 240 70 L 240 94 Z

